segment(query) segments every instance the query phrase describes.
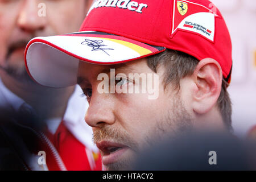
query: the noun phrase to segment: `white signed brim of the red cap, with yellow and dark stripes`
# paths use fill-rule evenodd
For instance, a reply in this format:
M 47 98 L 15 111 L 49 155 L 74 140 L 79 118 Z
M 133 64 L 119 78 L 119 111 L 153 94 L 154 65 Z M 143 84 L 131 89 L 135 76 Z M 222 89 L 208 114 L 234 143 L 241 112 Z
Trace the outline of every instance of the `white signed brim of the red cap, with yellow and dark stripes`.
M 38 84 L 63 88 L 76 84 L 79 61 L 118 64 L 165 49 L 123 36 L 85 31 L 32 39 L 26 47 L 25 63 L 28 74 Z

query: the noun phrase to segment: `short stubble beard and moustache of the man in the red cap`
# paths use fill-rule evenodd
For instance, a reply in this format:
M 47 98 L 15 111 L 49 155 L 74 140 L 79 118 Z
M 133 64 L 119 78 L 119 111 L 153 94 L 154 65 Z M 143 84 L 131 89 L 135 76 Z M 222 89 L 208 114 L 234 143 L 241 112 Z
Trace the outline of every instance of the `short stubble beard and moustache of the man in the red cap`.
M 130 170 L 133 168 L 136 156 L 139 155 L 139 152 L 141 152 L 144 148 L 152 147 L 156 143 L 159 143 L 166 138 L 175 139 L 180 134 L 191 131 L 192 117 L 185 109 L 179 96 L 174 98 L 171 108 L 171 110 L 167 110 L 165 117 L 159 117 L 159 121 L 155 121 L 155 127 L 148 131 L 142 143 L 136 143 L 129 137 L 129 134 L 127 134 L 126 131 L 112 129 L 108 126 L 94 129 L 94 143 L 100 140 L 108 139 L 120 143 L 126 141 L 124 144 L 127 144 L 134 149 L 134 160 L 131 158 L 122 159 L 113 164 L 108 164 L 108 166 L 105 166 L 106 169 L 110 171 Z M 138 146 L 140 146 L 140 148 Z M 143 148 L 141 148 L 141 146 L 143 146 Z

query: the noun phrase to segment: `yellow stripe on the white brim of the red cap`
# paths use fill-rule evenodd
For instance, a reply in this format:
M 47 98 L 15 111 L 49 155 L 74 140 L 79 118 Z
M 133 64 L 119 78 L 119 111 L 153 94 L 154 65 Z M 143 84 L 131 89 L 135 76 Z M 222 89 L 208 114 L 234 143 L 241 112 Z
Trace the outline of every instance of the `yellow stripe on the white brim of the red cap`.
M 148 55 L 148 54 L 152 53 L 152 51 L 150 51 L 150 50 L 148 50 L 144 47 L 141 47 L 141 46 L 138 46 L 136 44 L 126 42 L 126 41 L 123 41 L 123 40 L 109 39 L 109 38 L 101 38 L 101 39 L 106 39 L 106 40 L 110 40 L 110 41 L 113 41 L 113 42 L 118 43 L 118 44 L 122 44 L 123 46 L 129 47 L 130 49 L 133 49 L 134 51 L 138 52 L 139 55 L 141 55 L 141 56 Z

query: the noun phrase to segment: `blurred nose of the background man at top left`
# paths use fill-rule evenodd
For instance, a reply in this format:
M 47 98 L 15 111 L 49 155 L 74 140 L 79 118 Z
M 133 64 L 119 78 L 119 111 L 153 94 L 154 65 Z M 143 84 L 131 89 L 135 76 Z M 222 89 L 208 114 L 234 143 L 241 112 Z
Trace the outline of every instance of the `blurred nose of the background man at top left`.
M 23 31 L 33 32 L 36 30 L 43 30 L 46 26 L 46 17 L 40 14 L 39 11 L 46 6 L 38 7 L 37 0 L 24 0 L 19 11 L 18 26 Z M 43 10 L 42 10 L 43 11 Z M 46 15 L 45 15 L 46 16 Z

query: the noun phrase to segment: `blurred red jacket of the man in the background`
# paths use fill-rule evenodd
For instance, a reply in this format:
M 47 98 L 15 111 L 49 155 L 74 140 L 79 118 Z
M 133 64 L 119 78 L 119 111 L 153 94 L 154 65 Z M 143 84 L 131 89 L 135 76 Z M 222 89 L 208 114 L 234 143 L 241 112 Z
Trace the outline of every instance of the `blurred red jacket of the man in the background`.
M 93 152 L 89 150 L 77 140 L 72 133 L 65 127 L 63 121 L 60 123 L 56 133 L 52 135 L 49 132 L 45 132 L 48 139 L 54 145 L 59 153 L 53 152 L 51 148 L 47 148 L 46 163 L 50 171 L 59 171 L 61 169 L 58 160 L 62 160 L 65 168 L 68 171 L 101 171 L 101 155 L 100 152 Z M 59 159 L 59 157 L 61 159 Z M 60 163 L 60 162 L 59 162 Z

